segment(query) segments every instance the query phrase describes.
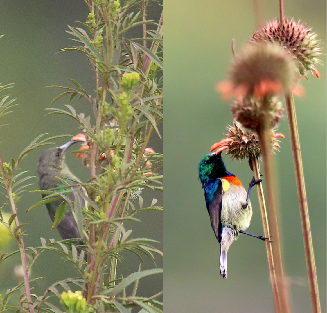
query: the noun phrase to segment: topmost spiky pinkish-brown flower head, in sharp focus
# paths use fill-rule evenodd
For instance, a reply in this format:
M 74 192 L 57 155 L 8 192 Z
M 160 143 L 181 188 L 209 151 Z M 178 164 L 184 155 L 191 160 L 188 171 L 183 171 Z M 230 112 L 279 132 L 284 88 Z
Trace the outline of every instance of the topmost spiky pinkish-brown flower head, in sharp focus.
M 311 32 L 311 28 L 306 27 L 300 20 L 295 23 L 293 18 L 290 21 L 285 18 L 282 25 L 278 20 L 268 22 L 253 33 L 251 41 L 275 42 L 281 45 L 298 61 L 301 75 L 306 75 L 308 71 L 311 71 L 318 78 L 320 77 L 314 65 L 322 64 L 319 60 L 321 42 L 317 40 L 317 34 Z

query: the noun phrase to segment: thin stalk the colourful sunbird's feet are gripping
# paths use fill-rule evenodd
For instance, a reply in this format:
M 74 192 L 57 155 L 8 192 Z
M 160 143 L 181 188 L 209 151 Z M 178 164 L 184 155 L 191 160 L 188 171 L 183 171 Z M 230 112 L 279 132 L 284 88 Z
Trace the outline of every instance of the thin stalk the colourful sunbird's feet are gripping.
M 254 172 L 254 178 L 256 180 L 259 180 L 260 179 L 259 160 L 258 160 L 258 158 L 252 158 L 251 160 L 252 160 L 252 168 L 253 168 L 253 172 Z M 256 186 L 257 186 L 257 194 L 258 194 L 259 206 L 260 206 L 260 211 L 261 211 L 262 225 L 263 225 L 263 229 L 264 229 L 264 236 L 267 238 L 270 238 L 270 232 L 269 232 L 269 226 L 268 226 L 268 216 L 267 216 L 265 196 L 264 196 L 262 184 L 259 183 Z M 279 313 L 279 312 L 282 312 L 281 311 L 281 299 L 280 299 L 280 295 L 278 293 L 275 263 L 274 263 L 274 258 L 273 258 L 273 254 L 272 254 L 272 246 L 271 246 L 272 241 L 266 240 L 265 242 L 266 242 L 267 259 L 268 259 L 268 267 L 269 267 L 272 293 L 274 296 L 276 312 Z

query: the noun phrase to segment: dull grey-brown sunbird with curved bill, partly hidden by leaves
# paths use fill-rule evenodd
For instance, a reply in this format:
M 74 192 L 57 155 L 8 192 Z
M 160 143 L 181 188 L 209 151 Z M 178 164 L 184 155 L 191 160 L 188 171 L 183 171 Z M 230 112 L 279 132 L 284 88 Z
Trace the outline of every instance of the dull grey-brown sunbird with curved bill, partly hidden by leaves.
M 49 148 L 41 154 L 37 168 L 37 173 L 39 175 L 39 186 L 41 190 L 47 190 L 59 186 L 62 186 L 63 190 L 67 190 L 65 183 L 63 183 L 57 177 L 60 177 L 70 185 L 79 182 L 79 179 L 69 170 L 65 162 L 65 151 L 76 142 L 79 141 L 69 141 L 60 147 Z M 71 201 L 75 201 L 73 192 L 69 194 L 66 193 L 65 195 Z M 47 195 L 42 194 L 42 197 L 44 196 Z M 45 204 L 52 222 L 55 220 L 55 214 L 61 202 L 62 201 L 58 200 Z M 81 203 L 83 203 L 82 200 Z M 58 232 L 62 239 L 81 238 L 73 213 L 67 203 L 65 206 L 65 213 L 57 226 Z M 77 241 L 75 243 L 78 245 L 84 244 L 82 241 Z

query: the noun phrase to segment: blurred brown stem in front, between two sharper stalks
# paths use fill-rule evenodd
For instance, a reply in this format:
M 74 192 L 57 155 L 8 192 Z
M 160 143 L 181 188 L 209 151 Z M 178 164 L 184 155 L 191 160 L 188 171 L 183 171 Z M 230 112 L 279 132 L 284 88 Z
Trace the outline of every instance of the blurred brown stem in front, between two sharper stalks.
M 264 125 L 267 125 L 267 122 L 265 122 Z M 283 271 L 283 261 L 278 230 L 277 208 L 275 203 L 276 192 L 274 166 L 271 159 L 271 149 L 269 149 L 271 147 L 267 142 L 267 133 L 268 132 L 266 131 L 266 127 L 261 127 L 258 131 L 260 148 L 265 169 L 265 181 L 268 197 L 271 233 L 273 235 L 273 242 L 271 246 L 273 252 L 273 260 L 275 263 L 275 273 L 277 282 L 276 286 L 278 288 L 277 292 L 280 298 L 280 311 L 277 313 L 289 313 L 291 312 L 289 301 L 290 297 Z

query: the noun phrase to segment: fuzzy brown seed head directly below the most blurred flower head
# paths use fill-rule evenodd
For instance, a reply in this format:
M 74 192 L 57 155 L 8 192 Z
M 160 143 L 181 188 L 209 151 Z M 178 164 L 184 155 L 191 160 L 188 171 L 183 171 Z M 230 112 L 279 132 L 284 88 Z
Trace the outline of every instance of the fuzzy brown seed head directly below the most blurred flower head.
M 231 111 L 235 120 L 239 121 L 243 127 L 253 131 L 258 131 L 268 115 L 270 129 L 276 128 L 283 117 L 283 105 L 276 96 L 267 97 L 264 102 L 253 97 L 246 97 L 234 101 Z

